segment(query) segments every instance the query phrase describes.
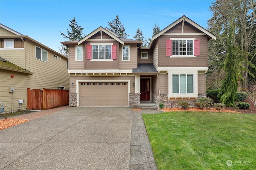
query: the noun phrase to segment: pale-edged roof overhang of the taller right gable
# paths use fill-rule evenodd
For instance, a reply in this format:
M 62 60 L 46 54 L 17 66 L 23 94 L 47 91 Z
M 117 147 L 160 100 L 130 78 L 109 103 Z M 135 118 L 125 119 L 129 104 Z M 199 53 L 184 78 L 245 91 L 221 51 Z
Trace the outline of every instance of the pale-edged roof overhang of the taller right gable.
M 198 25 L 197 23 L 195 23 L 194 21 L 190 20 L 188 17 L 186 16 L 182 16 L 180 17 L 178 20 L 174 21 L 173 23 L 171 23 L 170 25 L 168 25 L 167 27 L 165 27 L 164 29 L 162 29 L 162 31 L 160 31 L 159 33 L 157 33 L 156 35 L 154 35 L 152 37 L 152 41 L 154 41 L 156 38 L 160 37 L 160 35 L 164 34 L 166 31 L 168 31 L 169 29 L 171 29 L 172 27 L 174 27 L 175 25 L 177 25 L 180 22 L 183 22 L 182 24 L 184 24 L 184 21 L 187 21 L 188 23 L 190 23 L 191 25 L 193 25 L 194 27 L 196 27 L 197 29 L 199 29 L 200 31 L 202 31 L 203 33 L 205 33 L 206 35 L 208 35 L 210 38 L 213 38 L 216 40 L 216 36 L 212 33 L 210 33 L 209 31 L 207 31 L 206 29 L 204 29 L 202 26 Z M 152 45 L 152 41 L 150 42 L 150 47 Z

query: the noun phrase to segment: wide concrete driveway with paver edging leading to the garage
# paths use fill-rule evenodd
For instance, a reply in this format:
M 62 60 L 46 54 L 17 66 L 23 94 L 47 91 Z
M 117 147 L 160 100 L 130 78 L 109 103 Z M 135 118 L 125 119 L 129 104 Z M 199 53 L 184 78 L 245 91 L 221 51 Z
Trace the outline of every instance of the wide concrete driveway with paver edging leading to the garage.
M 157 169 L 142 112 L 158 111 L 64 106 L 12 117 L 31 121 L 0 131 L 0 169 Z

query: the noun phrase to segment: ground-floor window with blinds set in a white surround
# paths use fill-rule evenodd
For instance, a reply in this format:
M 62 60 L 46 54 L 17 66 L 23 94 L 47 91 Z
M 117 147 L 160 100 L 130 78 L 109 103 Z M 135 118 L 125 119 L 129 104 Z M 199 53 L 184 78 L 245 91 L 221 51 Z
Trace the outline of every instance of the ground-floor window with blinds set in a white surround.
M 172 74 L 173 94 L 193 94 L 194 74 Z

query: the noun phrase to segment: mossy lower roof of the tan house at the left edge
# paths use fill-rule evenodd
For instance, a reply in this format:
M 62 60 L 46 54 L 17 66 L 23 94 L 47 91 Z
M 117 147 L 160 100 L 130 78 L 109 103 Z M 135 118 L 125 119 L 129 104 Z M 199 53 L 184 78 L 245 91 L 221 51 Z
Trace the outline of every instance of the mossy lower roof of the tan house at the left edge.
M 23 69 L 15 64 L 7 61 L 6 59 L 3 59 L 2 57 L 0 57 L 0 69 L 22 72 L 22 73 L 26 73 L 26 74 L 30 74 L 30 75 L 33 74 L 29 70 Z

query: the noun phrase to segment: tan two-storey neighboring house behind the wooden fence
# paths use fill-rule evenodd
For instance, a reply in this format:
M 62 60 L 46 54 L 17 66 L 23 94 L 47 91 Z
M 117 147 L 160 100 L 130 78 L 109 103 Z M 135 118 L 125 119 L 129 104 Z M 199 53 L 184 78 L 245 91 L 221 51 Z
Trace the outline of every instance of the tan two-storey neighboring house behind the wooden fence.
M 2 24 L 0 57 L 0 102 L 4 111 L 26 109 L 27 88 L 69 90 L 68 57 Z M 13 93 L 10 87 L 14 87 Z

